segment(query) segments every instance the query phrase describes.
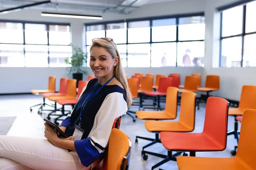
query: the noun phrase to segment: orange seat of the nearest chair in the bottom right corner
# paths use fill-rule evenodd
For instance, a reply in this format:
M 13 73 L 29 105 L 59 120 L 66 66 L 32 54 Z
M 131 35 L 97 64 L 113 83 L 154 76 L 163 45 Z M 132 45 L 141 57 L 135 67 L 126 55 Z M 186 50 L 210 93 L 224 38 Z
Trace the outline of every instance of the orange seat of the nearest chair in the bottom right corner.
M 252 170 L 236 158 L 177 157 L 179 170 Z

